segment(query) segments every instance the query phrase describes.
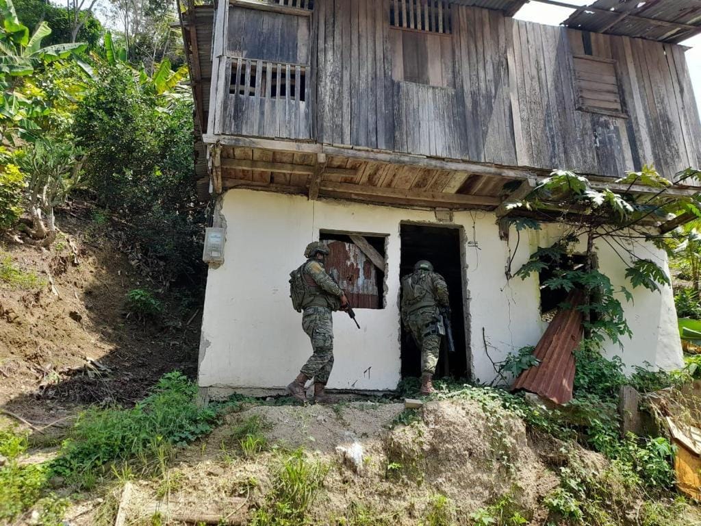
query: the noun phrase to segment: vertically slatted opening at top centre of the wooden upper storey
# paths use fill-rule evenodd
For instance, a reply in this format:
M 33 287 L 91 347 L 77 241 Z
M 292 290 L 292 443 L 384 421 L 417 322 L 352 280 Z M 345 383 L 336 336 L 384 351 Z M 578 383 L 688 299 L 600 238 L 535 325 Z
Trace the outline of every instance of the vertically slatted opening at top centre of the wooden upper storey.
M 390 25 L 431 33 L 451 33 L 452 18 L 447 0 L 389 0 Z

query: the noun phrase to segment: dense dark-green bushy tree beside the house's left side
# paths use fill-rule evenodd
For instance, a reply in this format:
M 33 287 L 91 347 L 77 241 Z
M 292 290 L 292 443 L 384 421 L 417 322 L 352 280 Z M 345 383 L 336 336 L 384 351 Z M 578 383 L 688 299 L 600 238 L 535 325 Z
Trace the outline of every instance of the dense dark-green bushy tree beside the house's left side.
M 128 220 L 166 282 L 201 269 L 204 222 L 192 180 L 192 100 L 175 95 L 116 61 L 100 68 L 74 123 L 97 203 Z

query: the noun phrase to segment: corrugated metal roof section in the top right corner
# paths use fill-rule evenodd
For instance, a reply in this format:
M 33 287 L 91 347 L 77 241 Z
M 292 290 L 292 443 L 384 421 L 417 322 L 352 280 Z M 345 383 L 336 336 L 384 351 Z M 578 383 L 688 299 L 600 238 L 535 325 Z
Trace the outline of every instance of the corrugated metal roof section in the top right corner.
M 563 23 L 583 31 L 676 43 L 701 32 L 701 0 L 597 0 Z

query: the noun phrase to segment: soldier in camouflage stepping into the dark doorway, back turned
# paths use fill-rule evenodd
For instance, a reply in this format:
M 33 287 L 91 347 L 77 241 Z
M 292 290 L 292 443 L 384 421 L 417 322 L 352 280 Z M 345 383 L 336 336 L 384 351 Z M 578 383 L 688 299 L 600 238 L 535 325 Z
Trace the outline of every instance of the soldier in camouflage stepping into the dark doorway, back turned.
M 435 391 L 432 380 L 444 334 L 439 309 L 450 312 L 448 285 L 430 262 L 416 262 L 414 272 L 402 278 L 402 322 L 421 349 L 421 394 Z

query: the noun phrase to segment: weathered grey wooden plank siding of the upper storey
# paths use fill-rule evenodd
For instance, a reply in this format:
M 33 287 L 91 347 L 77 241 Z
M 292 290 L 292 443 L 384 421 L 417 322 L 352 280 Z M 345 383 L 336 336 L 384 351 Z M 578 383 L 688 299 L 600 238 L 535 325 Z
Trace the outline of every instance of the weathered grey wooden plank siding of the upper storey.
M 230 7 L 226 20 L 217 18 L 227 38 L 217 43 L 215 35 L 222 116 L 210 115 L 210 133 L 606 177 L 652 163 L 671 178 L 701 165 L 701 123 L 680 46 L 456 4 L 449 18 L 436 18 L 450 32 L 423 32 L 406 5 L 316 0 L 311 17 Z M 390 24 L 390 7 L 400 24 Z M 304 97 L 290 88 L 283 97 L 268 93 L 271 72 L 294 86 L 304 74 Z M 452 176 L 402 177 L 433 188 Z M 355 184 L 401 187 L 404 179 L 371 163 Z

